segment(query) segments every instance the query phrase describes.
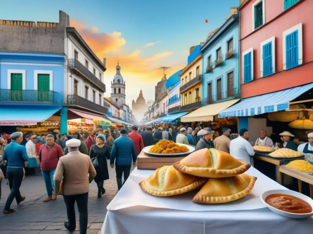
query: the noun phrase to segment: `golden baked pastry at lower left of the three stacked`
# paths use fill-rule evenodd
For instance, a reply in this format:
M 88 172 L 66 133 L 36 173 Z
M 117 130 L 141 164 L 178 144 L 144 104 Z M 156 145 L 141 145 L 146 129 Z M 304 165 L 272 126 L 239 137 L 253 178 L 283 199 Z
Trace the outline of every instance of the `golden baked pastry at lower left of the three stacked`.
M 139 183 L 143 191 L 157 197 L 187 193 L 202 186 L 208 179 L 177 171 L 173 166 L 163 166 Z

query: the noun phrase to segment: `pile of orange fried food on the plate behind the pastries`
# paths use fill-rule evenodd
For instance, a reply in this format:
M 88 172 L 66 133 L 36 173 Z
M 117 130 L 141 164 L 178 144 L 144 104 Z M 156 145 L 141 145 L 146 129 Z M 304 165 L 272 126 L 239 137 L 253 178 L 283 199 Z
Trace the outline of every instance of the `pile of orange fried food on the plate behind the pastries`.
M 185 145 L 179 145 L 174 143 L 172 140 L 160 140 L 154 146 L 151 147 L 149 153 L 154 154 L 179 154 L 186 153 L 189 149 Z

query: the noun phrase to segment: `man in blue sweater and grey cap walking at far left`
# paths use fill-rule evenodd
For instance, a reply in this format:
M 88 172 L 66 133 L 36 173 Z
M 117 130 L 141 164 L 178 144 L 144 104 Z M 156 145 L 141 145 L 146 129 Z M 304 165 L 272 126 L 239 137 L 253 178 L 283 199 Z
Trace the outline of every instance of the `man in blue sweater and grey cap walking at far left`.
M 26 147 L 20 145 L 23 141 L 23 133 L 14 132 L 10 135 L 10 139 L 11 143 L 5 147 L 2 156 L 2 160 L 8 162 L 7 178 L 11 190 L 4 206 L 4 214 L 15 212 L 15 210 L 11 209 L 14 197 L 17 204 L 25 200 L 25 196 L 21 196 L 19 191 L 24 178 L 25 162 L 28 162 Z

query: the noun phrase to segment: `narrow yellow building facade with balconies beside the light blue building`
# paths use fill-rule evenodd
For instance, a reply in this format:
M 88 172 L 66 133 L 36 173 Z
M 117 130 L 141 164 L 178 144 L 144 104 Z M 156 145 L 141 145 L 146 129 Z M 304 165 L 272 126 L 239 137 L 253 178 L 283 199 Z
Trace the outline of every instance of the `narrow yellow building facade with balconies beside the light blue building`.
M 192 111 L 201 107 L 202 55 L 199 54 L 180 73 L 181 111 Z

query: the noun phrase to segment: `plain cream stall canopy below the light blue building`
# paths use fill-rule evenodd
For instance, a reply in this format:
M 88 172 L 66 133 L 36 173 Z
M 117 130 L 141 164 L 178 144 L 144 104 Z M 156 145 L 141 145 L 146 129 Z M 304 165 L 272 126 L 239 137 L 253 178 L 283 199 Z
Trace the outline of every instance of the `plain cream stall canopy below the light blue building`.
M 199 109 L 192 111 L 190 114 L 181 118 L 182 122 L 200 122 L 200 121 L 213 121 L 213 116 L 226 108 L 234 105 L 240 99 L 233 99 L 223 102 L 218 102 L 210 105 L 200 107 Z

